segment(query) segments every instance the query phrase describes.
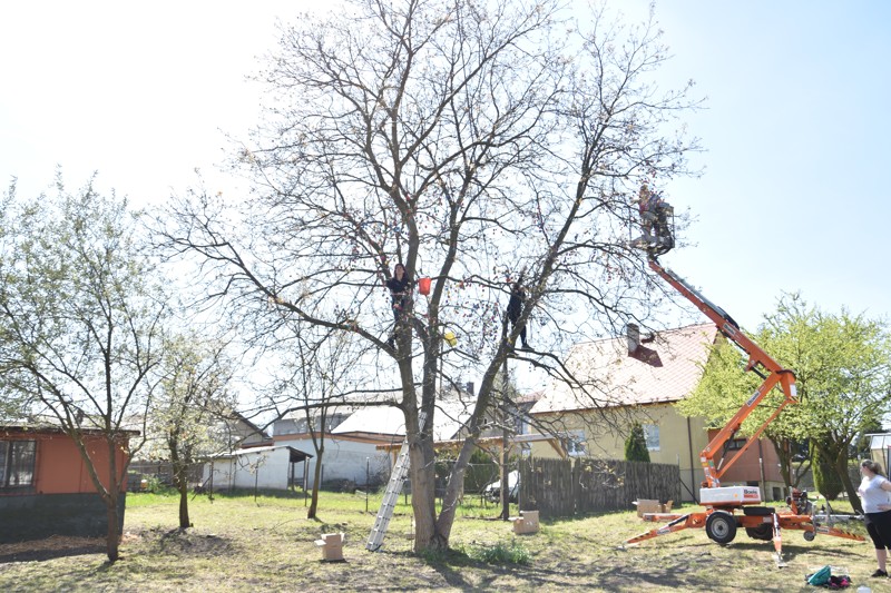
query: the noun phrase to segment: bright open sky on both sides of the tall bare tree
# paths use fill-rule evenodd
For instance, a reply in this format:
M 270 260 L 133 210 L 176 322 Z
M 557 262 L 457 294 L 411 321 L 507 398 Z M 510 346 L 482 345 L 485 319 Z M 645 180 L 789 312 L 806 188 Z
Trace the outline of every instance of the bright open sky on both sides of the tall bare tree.
M 276 16 L 304 2 L 40 1 L 0 4 L 0 179 L 37 196 L 56 165 L 92 170 L 136 204 L 214 172 L 255 121 L 245 81 L 274 46 Z M 629 16 L 648 2 L 610 6 Z M 687 116 L 706 152 L 698 179 L 665 187 L 696 217 L 663 263 L 754 328 L 782 291 L 831 312 L 891 312 L 891 4 L 884 1 L 656 6 L 674 56 L 660 85 L 696 81 Z M 703 318 L 703 320 L 705 320 Z

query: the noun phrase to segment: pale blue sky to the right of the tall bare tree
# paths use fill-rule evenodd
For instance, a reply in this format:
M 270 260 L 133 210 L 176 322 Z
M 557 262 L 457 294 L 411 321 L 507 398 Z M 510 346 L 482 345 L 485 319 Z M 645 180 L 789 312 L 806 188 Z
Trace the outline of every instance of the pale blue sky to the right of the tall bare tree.
M 642 2 L 643 3 L 643 2 Z M 664 263 L 754 328 L 782 291 L 838 312 L 891 312 L 891 4 L 657 6 L 707 110 L 687 120 L 704 175 L 667 188 L 698 218 Z

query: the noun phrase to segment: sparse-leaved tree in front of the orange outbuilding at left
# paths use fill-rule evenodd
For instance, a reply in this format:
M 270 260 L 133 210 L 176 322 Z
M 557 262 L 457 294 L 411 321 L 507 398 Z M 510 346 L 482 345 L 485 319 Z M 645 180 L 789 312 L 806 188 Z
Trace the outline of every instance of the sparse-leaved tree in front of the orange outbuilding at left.
M 57 189 L 27 202 L 13 190 L 4 211 L 0 377 L 74 439 L 106 504 L 114 562 L 127 465 L 141 445 L 128 438 L 155 386 L 166 304 L 127 201 L 92 181 L 68 194 L 61 176 Z M 105 455 L 85 438 L 97 433 Z

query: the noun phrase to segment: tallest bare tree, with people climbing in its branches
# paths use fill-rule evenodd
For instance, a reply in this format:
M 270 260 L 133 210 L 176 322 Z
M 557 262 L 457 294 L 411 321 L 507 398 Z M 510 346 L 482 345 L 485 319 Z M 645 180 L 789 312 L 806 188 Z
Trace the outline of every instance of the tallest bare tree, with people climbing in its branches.
M 551 0 L 347 4 L 284 29 L 267 117 L 234 162 L 255 179 L 251 197 L 177 200 L 164 234 L 229 313 L 261 319 L 271 300 L 366 345 L 354 399 L 403 411 L 415 548 L 448 546 L 506 359 L 574 384 L 588 407 L 608 403 L 564 356 L 658 305 L 646 255 L 628 246 L 633 195 L 687 172 L 695 140 L 667 123 L 694 103 L 648 85 L 665 59 L 653 22 L 626 30 L 586 12 L 585 32 Z M 393 316 L 382 280 L 395 261 L 432 283 Z M 518 279 L 527 299 L 508 329 Z M 523 326 L 533 350 L 513 348 Z M 482 380 L 438 515 L 438 379 L 469 372 Z

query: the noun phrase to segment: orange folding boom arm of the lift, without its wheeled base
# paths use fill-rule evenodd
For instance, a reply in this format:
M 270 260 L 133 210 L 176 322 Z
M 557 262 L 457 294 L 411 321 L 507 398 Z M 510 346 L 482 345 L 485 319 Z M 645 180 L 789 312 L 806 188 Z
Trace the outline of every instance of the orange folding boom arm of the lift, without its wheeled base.
M 746 401 L 742 408 L 727 422 L 727 424 L 718 432 L 714 438 L 703 449 L 699 461 L 703 464 L 705 472 L 704 486 L 706 488 L 716 488 L 721 486 L 721 477 L 733 466 L 734 462 L 738 459 L 743 453 L 748 448 L 752 443 L 755 443 L 767 425 L 782 412 L 789 404 L 797 402 L 797 392 L 795 388 L 795 374 L 781 367 L 776 360 L 771 358 L 761 347 L 752 342 L 741 329 L 736 322 L 727 315 L 724 309 L 714 305 L 711 300 L 705 298 L 698 290 L 684 281 L 683 278 L 677 276 L 669 269 L 664 268 L 655 257 L 649 259 L 649 267 L 665 281 L 670 284 L 678 293 L 684 295 L 687 300 L 696 305 L 716 326 L 727 339 L 736 344 L 748 356 L 746 370 L 752 370 L 764 382 L 755 389 L 755 393 Z M 743 422 L 750 414 L 757 407 L 762 399 L 775 386 L 780 386 L 783 391 L 783 402 L 777 406 L 773 414 L 752 434 L 751 438 L 746 439 L 745 445 L 736 452 L 726 464 L 719 463 L 715 467 L 715 456 L 724 451 L 724 445 L 733 438 Z M 723 459 L 722 459 L 723 462 Z M 758 496 L 760 498 L 760 496 Z M 752 503 L 758 503 L 760 500 L 752 500 Z

